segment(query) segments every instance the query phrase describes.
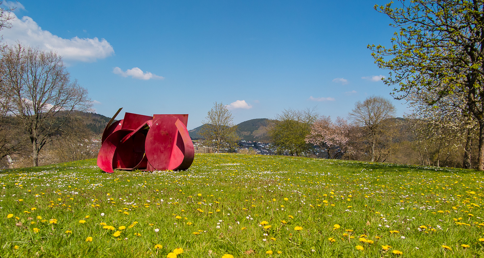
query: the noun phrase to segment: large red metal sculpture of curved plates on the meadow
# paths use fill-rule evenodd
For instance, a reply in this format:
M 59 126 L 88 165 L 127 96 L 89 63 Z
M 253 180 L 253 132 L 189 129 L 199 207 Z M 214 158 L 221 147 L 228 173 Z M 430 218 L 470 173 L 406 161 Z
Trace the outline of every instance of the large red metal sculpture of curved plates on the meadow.
M 112 173 L 121 170 L 186 170 L 195 149 L 188 135 L 188 115 L 138 115 L 111 118 L 104 129 L 97 165 Z

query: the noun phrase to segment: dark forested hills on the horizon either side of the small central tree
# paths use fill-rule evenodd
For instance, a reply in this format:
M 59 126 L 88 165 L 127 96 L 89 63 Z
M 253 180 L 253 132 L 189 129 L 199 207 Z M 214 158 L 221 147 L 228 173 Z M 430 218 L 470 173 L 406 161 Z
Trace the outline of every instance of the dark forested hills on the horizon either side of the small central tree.
M 237 125 L 238 129 L 236 131 L 236 134 L 239 138 L 245 141 L 268 142 L 268 121 L 269 119 L 267 118 L 256 118 L 244 121 Z M 203 125 L 188 131 L 192 140 L 197 140 L 201 138 L 198 132 L 202 127 Z

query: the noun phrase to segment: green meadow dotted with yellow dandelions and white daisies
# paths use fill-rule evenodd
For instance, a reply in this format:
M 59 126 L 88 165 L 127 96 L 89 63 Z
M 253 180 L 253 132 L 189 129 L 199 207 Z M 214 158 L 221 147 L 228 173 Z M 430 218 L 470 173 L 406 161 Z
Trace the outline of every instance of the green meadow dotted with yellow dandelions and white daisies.
M 197 154 L 180 172 L 108 174 L 95 159 L 4 170 L 0 257 L 477 257 L 483 181 L 237 154 Z

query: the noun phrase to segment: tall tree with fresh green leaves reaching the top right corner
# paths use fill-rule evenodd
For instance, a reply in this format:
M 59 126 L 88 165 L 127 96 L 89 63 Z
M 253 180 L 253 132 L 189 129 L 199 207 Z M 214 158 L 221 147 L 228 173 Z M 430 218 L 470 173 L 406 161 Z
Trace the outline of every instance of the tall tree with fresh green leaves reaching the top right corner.
M 399 0 L 392 5 L 375 5 L 398 28 L 392 45 L 368 45 L 378 67 L 391 71 L 383 81 L 395 86 L 397 99 L 412 91 L 437 93 L 423 99 L 428 105 L 447 96 L 462 98 L 479 124 L 478 169 L 484 170 L 484 1 Z

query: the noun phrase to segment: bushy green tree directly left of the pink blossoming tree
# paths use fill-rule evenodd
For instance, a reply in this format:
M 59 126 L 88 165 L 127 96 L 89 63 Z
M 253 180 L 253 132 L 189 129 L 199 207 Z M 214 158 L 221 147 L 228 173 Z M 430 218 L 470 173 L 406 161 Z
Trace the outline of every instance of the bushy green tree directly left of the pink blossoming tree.
M 307 155 L 313 148 L 314 144 L 306 143 L 306 137 L 311 133 L 311 125 L 318 117 L 313 111 L 288 109 L 271 121 L 268 134 L 278 155 Z

